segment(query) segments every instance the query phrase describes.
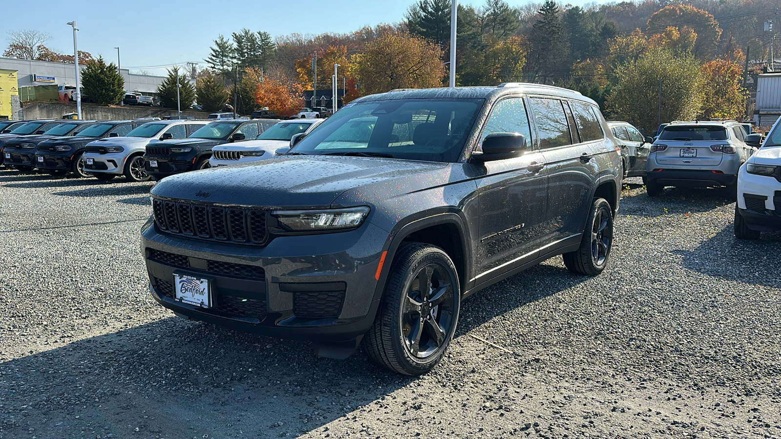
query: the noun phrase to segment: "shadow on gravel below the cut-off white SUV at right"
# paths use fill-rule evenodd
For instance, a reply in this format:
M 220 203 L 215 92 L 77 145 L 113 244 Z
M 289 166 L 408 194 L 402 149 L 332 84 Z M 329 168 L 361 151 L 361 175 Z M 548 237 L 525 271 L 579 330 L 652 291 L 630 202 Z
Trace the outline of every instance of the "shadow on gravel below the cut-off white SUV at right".
M 763 233 L 758 241 L 735 237 L 733 225 L 694 250 L 675 250 L 686 269 L 744 284 L 781 288 L 781 232 Z

